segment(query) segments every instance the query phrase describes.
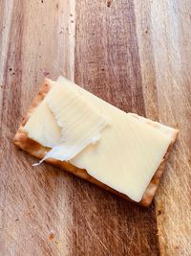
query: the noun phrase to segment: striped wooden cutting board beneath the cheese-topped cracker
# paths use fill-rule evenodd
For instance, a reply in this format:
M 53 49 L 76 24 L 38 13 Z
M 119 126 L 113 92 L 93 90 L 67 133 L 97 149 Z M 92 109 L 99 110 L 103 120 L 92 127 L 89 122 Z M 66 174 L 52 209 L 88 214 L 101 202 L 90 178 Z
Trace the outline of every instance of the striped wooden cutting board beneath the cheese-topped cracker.
M 0 255 L 191 255 L 190 10 L 189 0 L 0 1 Z M 12 146 L 39 83 L 58 75 L 180 129 L 151 207 L 32 168 Z

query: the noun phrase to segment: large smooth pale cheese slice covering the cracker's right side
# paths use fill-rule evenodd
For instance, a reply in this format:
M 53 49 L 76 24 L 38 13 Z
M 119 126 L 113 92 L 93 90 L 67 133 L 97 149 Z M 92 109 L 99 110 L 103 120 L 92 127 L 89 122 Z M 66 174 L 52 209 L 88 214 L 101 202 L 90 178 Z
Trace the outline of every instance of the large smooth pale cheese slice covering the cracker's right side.
M 70 162 L 86 169 L 89 175 L 102 183 L 139 201 L 159 168 L 172 134 L 164 134 L 146 122 L 140 122 L 131 113 L 109 105 L 72 81 L 60 77 L 57 82 L 63 86 L 70 84 L 90 105 L 111 120 L 111 125 L 102 131 L 101 139 L 78 153 Z

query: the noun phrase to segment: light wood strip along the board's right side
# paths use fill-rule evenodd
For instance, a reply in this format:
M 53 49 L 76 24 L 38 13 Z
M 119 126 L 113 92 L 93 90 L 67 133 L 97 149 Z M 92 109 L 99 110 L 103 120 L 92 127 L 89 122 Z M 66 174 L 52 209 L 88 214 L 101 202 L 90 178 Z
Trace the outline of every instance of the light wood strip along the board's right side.
M 136 1 L 135 6 L 146 114 L 180 129 L 156 198 L 160 254 L 190 255 L 191 3 Z

